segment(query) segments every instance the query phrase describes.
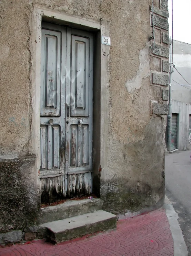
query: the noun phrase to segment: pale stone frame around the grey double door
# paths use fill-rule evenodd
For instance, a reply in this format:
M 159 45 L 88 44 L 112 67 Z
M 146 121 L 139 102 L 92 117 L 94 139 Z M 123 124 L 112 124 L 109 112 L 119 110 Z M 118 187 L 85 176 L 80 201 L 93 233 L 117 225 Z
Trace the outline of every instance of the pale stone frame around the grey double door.
M 109 53 L 110 46 L 101 44 L 101 36 L 109 36 L 110 29 L 103 22 L 70 16 L 64 12 L 35 5 L 29 21 L 31 31 L 31 153 L 36 155 L 37 192 L 40 197 L 40 82 L 41 82 L 41 24 L 42 21 L 87 30 L 94 34 L 93 69 L 93 193 L 100 195 L 100 177 L 107 171 L 107 137 L 109 131 Z

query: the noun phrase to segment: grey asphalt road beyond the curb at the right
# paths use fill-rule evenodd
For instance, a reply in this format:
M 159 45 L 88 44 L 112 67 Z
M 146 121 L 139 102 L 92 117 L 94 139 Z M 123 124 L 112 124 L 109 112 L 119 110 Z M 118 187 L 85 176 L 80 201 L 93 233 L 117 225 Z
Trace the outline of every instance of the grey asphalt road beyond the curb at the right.
M 188 255 L 191 256 L 191 151 L 177 151 L 165 156 L 166 195 L 179 215 L 179 224 Z

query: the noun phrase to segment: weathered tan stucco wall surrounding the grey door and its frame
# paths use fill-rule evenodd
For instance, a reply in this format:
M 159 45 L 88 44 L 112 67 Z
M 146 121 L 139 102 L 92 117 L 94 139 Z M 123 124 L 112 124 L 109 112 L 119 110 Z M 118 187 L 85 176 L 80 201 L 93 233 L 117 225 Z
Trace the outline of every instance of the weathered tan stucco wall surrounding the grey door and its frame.
M 2 158 L 37 155 L 34 143 L 35 90 L 32 87 L 35 44 L 31 36 L 38 24 L 34 8 L 50 8 L 107 26 L 111 37 L 102 109 L 100 194 L 104 208 L 113 213 L 139 211 L 161 205 L 164 197 L 164 133 L 168 90 L 168 12 L 166 0 L 154 1 L 155 49 L 150 49 L 151 0 L 20 0 L 0 2 L 1 40 L 1 146 Z M 36 40 L 40 43 L 40 38 Z M 151 75 L 152 74 L 152 75 Z M 156 101 L 155 108 L 152 101 Z M 104 105 L 102 104 L 102 105 Z M 104 113 L 103 113 L 104 111 Z M 104 164 L 102 164 L 104 162 Z M 38 201 L 38 166 L 34 161 L 20 175 L 34 184 Z M 99 176 L 99 175 L 98 175 Z M 100 177 L 100 176 L 99 176 Z M 9 177 L 7 177 L 9 189 Z M 23 186 L 27 188 L 28 183 Z M 17 191 L 15 191 L 15 197 Z M 26 194 L 30 201 L 30 195 Z M 23 199 L 26 200 L 26 199 Z M 22 201 L 22 199 L 21 199 Z M 5 203 L 5 202 L 4 202 Z M 2 202 L 3 204 L 3 202 Z M 37 205 L 34 213 L 38 210 Z M 3 206 L 4 209 L 7 209 Z M 18 208 L 14 223 L 20 220 Z M 16 209 L 15 209 L 16 211 Z M 17 215 L 17 217 L 16 217 Z M 25 214 L 27 218 L 27 214 Z M 23 218 L 23 217 L 22 217 Z M 35 220 L 34 220 L 35 221 Z M 12 223 L 9 220 L 10 224 Z M 7 222 L 7 223 L 8 223 Z M 6 224 L 7 224 L 6 223 Z M 8 225 L 8 224 L 7 224 Z M 15 224 L 11 224 L 16 228 Z M 23 224 L 24 225 L 24 224 Z M 2 228 L 3 231 L 6 228 Z

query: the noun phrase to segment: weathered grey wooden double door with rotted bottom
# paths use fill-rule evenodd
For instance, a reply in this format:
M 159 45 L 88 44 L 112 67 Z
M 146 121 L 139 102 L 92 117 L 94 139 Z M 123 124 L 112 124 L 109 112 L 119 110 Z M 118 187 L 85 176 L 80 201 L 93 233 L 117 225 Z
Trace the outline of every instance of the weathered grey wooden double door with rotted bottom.
M 92 34 L 42 24 L 42 201 L 91 193 L 92 91 Z

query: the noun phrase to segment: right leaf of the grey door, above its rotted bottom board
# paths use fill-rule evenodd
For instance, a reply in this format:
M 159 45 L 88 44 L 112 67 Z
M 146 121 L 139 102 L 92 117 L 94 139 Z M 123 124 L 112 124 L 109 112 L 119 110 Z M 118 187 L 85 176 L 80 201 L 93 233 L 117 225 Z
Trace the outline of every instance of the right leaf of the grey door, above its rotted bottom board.
M 92 171 L 93 36 L 67 28 L 67 45 L 66 173 L 72 175 Z

